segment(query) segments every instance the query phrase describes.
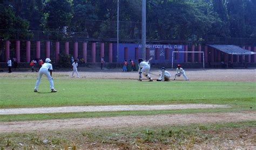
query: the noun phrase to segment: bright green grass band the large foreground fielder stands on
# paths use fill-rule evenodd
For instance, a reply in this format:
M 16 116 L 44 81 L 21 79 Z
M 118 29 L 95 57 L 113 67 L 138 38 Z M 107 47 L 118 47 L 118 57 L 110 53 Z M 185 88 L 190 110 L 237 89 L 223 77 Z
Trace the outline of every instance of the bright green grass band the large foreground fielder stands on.
M 51 93 L 42 80 L 0 78 L 0 108 L 70 105 L 207 103 L 256 106 L 256 84 L 247 82 L 137 82 L 134 80 L 55 80 Z

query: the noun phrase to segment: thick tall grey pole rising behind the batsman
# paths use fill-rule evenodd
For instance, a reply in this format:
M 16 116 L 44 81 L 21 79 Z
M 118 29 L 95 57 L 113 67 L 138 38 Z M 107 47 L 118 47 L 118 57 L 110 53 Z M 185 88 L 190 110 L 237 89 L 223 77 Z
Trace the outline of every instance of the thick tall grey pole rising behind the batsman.
M 142 58 L 146 60 L 146 0 L 142 0 Z

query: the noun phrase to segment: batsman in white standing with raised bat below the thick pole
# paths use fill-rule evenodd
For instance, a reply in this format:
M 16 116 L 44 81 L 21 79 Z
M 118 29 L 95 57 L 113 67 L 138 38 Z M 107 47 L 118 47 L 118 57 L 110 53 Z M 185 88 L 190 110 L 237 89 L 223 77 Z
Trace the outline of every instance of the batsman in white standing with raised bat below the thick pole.
M 149 79 L 149 81 L 153 81 L 153 79 L 149 75 L 150 71 L 150 60 L 143 61 L 143 59 L 139 59 L 139 81 L 142 81 L 142 74 Z

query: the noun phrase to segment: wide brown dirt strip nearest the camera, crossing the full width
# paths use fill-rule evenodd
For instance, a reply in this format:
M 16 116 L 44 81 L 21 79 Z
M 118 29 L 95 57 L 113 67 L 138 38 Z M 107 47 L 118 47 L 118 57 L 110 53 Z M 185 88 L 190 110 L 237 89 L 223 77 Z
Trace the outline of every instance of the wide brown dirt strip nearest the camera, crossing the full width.
M 219 123 L 256 120 L 256 112 L 195 113 L 153 116 L 54 119 L 25 122 L 0 122 L 0 133 L 49 131 L 79 128 L 120 128 L 192 123 Z

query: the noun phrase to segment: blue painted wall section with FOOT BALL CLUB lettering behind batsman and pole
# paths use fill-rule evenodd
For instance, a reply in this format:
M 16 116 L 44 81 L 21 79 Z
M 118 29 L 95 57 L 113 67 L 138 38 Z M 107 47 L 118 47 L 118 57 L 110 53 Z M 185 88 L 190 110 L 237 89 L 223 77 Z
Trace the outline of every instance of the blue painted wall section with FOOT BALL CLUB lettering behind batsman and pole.
M 117 44 L 113 44 L 113 62 L 124 62 L 126 59 L 135 60 L 136 48 L 138 48 L 138 58 L 142 58 L 142 45 L 140 44 L 119 44 L 119 52 L 117 58 Z M 127 49 L 125 54 L 125 49 Z M 148 44 L 146 45 L 146 51 L 149 51 L 150 56 L 153 56 L 152 63 L 171 63 L 172 62 L 172 52 L 173 51 L 184 51 L 184 45 L 158 45 L 158 44 Z M 169 51 L 169 55 L 166 51 Z M 126 58 L 125 58 L 126 56 Z M 183 63 L 184 53 L 174 53 L 173 62 Z

